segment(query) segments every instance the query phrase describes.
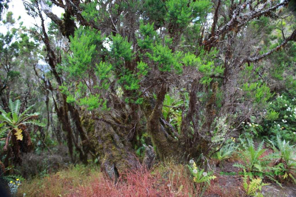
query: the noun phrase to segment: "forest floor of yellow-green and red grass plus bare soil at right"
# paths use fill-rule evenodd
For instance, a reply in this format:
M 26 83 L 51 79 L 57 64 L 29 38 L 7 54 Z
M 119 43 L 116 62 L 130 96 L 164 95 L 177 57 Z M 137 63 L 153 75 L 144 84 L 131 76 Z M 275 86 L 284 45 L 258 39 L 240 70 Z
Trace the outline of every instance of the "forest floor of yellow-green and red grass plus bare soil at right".
M 271 152 L 267 150 L 266 154 Z M 238 156 L 225 160 L 215 167 L 216 178 L 203 193 L 205 197 L 246 196 L 242 186 L 239 168 L 233 167 L 240 162 Z M 235 172 L 236 175 L 220 175 L 220 172 Z M 152 170 L 126 172 L 124 180 L 114 184 L 104 177 L 98 167 L 83 165 L 70 166 L 43 178 L 23 181 L 18 196 L 199 196 L 202 189 L 192 181 L 187 166 L 172 163 L 159 163 Z M 264 180 L 264 182 L 266 182 Z M 262 188 L 263 196 L 295 197 L 295 185 L 279 187 L 270 184 Z

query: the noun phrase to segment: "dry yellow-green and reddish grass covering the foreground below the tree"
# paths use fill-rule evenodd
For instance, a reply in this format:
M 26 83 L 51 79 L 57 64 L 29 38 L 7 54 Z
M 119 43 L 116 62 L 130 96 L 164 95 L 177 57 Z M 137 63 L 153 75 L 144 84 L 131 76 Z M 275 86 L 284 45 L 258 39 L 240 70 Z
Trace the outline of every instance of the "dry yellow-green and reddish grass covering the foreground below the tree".
M 220 177 L 211 181 L 205 194 L 236 196 L 237 185 L 221 185 Z M 227 191 L 225 191 L 225 186 Z M 100 197 L 100 196 L 198 196 L 200 185 L 194 184 L 188 167 L 175 165 L 172 162 L 160 163 L 152 170 L 145 168 L 127 171 L 120 181 L 106 179 L 97 167 L 78 165 L 61 170 L 44 178 L 24 181 L 19 196 L 67 196 L 67 197 Z M 235 188 L 236 187 L 236 188 Z M 230 190 L 229 190 L 230 189 Z M 232 190 L 233 189 L 233 190 Z

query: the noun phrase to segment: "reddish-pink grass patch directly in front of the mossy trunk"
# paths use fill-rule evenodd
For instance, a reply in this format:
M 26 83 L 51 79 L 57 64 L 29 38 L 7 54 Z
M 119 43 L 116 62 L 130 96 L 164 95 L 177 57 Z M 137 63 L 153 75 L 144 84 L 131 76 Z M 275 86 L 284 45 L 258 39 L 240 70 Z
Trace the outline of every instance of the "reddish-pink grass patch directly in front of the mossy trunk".
M 116 185 L 106 178 L 94 181 L 91 185 L 80 187 L 69 197 L 99 197 L 99 196 L 189 196 L 193 193 L 192 180 L 188 178 L 184 167 L 174 169 L 165 168 L 166 173 L 156 169 L 145 168 L 128 171 L 121 175 Z M 164 175 L 166 174 L 166 175 Z M 164 177 L 162 177 L 164 175 Z

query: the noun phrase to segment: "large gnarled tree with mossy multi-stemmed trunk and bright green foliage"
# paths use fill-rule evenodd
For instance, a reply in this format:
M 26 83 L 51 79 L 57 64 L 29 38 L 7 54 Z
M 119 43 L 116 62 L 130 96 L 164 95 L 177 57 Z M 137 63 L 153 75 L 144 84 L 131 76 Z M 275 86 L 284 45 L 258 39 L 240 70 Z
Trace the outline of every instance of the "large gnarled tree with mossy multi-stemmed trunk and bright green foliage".
M 43 1 L 25 5 L 41 19 L 69 150 L 68 112 L 81 140 L 94 142 L 82 143 L 82 155 L 95 148 L 110 177 L 138 166 L 134 149 L 146 132 L 160 159 L 205 161 L 242 121 L 262 114 L 273 95 L 262 79 L 262 61 L 296 39 L 293 25 L 283 29 L 283 38 L 274 34 L 290 12 L 288 0 L 51 3 L 65 9 L 64 17 Z M 69 38 L 63 56 L 57 56 L 41 11 Z M 166 95 L 183 100 L 179 130 L 163 115 Z

